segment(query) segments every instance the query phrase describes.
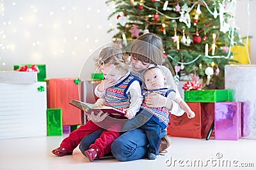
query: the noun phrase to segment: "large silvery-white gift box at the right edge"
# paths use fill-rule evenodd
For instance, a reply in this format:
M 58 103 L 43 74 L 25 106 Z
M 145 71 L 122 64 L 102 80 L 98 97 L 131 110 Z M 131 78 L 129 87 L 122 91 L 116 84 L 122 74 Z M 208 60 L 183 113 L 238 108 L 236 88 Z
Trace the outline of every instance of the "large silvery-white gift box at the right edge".
M 243 102 L 242 137 L 256 139 L 256 65 L 226 65 L 225 88 L 234 90 L 234 101 Z

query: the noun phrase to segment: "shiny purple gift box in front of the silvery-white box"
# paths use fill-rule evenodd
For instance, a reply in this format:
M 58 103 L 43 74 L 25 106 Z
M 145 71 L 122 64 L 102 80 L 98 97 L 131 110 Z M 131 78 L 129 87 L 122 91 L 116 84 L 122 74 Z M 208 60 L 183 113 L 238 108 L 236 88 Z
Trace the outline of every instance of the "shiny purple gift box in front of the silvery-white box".
M 219 140 L 241 138 L 241 103 L 215 103 L 214 136 Z

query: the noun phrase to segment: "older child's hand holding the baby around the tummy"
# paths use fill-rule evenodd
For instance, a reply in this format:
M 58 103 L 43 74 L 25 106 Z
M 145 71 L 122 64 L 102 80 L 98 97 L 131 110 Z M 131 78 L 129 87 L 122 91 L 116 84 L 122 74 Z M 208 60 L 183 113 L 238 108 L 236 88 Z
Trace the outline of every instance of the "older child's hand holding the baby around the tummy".
M 166 106 L 167 97 L 161 96 L 160 94 L 149 94 L 145 101 L 149 108 L 161 108 Z

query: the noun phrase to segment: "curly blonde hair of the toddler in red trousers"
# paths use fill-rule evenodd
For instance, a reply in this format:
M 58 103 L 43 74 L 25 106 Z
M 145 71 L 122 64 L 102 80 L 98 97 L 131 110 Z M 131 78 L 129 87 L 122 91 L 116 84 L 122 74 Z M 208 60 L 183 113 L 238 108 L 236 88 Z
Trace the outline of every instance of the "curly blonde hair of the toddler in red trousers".
M 122 50 L 119 48 L 108 46 L 100 51 L 100 54 L 95 60 L 97 69 L 103 64 L 114 64 L 117 69 L 122 71 L 130 70 L 130 62 L 128 56 L 124 55 Z

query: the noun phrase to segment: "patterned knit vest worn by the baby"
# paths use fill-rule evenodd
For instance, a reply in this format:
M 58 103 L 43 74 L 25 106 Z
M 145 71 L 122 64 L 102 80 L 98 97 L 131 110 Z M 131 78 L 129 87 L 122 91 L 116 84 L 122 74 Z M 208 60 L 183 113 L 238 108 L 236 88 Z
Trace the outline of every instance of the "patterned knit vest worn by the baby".
M 142 90 L 143 99 L 148 96 L 148 94 L 160 94 L 161 96 L 167 97 L 170 92 L 175 92 L 175 90 L 163 88 L 157 90 Z M 149 108 L 147 107 L 145 100 L 141 105 L 141 109 L 144 111 L 148 111 L 152 114 L 152 120 L 154 120 L 157 124 L 161 125 L 163 129 L 166 129 L 168 123 L 170 122 L 170 114 L 169 110 L 162 107 L 162 108 Z

